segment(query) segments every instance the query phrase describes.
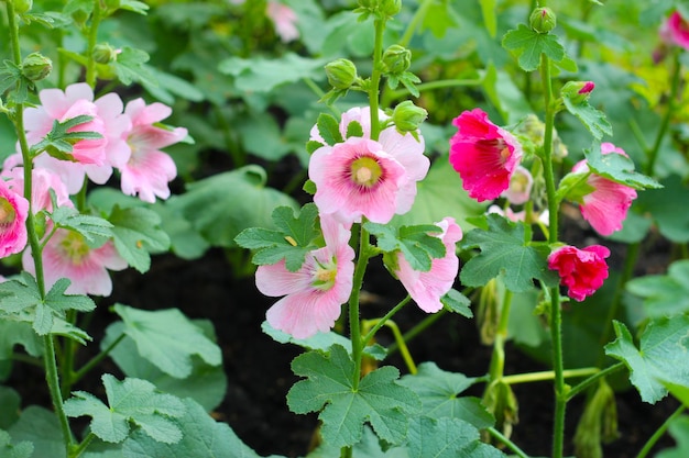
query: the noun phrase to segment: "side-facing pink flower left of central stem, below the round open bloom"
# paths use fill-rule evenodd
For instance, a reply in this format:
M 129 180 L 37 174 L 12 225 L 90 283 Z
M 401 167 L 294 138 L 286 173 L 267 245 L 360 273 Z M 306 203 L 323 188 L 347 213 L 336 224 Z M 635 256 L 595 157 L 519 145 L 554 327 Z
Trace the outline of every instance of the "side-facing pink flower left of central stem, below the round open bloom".
M 291 272 L 284 260 L 256 269 L 259 291 L 284 295 L 269 309 L 267 322 L 295 338 L 330 331 L 352 289 L 354 250 L 349 230 L 324 215 L 320 226 L 326 246 L 308 253 L 299 270 Z

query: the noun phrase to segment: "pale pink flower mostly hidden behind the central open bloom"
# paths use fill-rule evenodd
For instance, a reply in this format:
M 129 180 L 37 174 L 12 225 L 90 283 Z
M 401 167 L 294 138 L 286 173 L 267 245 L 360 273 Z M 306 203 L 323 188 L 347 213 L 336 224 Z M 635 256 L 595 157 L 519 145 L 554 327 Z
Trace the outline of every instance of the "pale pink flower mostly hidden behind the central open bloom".
M 379 120 L 385 121 L 387 116 L 379 110 Z M 340 121 L 340 134 L 347 138 L 347 130 L 351 122 L 358 122 L 363 132 L 363 138 L 371 138 L 371 109 L 369 107 L 354 107 L 342 113 Z M 426 177 L 430 160 L 424 155 L 425 143 L 420 132 L 417 132 L 418 141 L 411 133 L 401 134 L 394 125 L 381 131 L 378 143 L 382 149 L 398 161 L 405 170 L 406 180 L 401 185 L 396 194 L 395 213 L 404 214 L 412 209 L 416 198 L 416 183 Z M 314 125 L 310 132 L 310 139 L 325 144 L 318 132 L 318 126 Z

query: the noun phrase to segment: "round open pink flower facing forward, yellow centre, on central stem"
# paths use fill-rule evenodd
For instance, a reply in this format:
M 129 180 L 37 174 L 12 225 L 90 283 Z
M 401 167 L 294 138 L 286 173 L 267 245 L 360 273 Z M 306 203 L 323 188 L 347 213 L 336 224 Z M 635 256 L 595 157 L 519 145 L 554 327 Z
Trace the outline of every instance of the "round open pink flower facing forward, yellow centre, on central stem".
M 404 166 L 372 139 L 350 137 L 318 148 L 308 175 L 316 183 L 314 202 L 320 213 L 336 214 L 341 222 L 360 222 L 365 216 L 384 224 L 397 208 L 411 208 L 407 196 L 398 197 L 408 182 Z

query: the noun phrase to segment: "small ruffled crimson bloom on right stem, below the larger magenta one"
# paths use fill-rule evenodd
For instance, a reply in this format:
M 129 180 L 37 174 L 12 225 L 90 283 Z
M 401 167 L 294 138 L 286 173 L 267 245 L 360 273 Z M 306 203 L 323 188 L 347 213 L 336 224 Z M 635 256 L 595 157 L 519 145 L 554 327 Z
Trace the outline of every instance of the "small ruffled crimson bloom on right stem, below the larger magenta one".
M 583 249 L 566 245 L 550 253 L 548 268 L 558 271 L 560 283 L 569 288 L 567 295 L 583 301 L 602 287 L 608 278 L 608 256 L 610 250 L 602 245 Z

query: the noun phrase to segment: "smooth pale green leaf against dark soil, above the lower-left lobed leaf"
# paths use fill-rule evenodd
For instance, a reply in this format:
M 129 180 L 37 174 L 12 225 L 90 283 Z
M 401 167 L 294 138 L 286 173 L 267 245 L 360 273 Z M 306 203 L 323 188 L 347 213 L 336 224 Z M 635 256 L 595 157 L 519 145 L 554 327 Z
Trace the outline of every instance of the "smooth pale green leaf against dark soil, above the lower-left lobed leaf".
M 124 322 L 124 333 L 136 343 L 139 354 L 163 372 L 183 379 L 192 373 L 192 355 L 210 366 L 222 362 L 222 353 L 179 310 L 153 312 L 114 304 Z

